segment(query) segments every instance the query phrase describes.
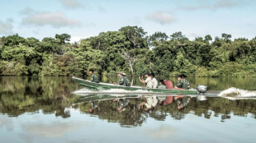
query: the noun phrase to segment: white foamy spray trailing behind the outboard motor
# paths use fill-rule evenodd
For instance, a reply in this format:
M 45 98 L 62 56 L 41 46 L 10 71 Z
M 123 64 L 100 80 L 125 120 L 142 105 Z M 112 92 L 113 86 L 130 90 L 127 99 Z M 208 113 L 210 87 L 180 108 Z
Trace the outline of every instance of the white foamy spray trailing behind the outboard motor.
M 244 99 L 244 98 L 256 99 L 256 91 L 240 90 L 235 87 L 231 87 L 227 90 L 221 91 L 220 95 L 218 96 L 225 97 L 227 99 Z

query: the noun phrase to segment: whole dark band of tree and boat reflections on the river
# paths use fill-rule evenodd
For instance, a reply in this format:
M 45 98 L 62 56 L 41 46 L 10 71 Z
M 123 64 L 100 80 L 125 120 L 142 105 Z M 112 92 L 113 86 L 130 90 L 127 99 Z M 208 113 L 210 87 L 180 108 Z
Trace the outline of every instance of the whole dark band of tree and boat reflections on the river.
M 198 99 L 182 95 L 73 95 L 81 90 L 71 77 L 0 77 L 0 114 L 17 117 L 23 113 L 55 113 L 69 118 L 77 109 L 94 117 L 118 122 L 122 127 L 140 126 L 148 118 L 164 121 L 168 116 L 183 120 L 188 113 L 197 117 L 256 118 L 255 99 L 230 100 L 220 97 Z

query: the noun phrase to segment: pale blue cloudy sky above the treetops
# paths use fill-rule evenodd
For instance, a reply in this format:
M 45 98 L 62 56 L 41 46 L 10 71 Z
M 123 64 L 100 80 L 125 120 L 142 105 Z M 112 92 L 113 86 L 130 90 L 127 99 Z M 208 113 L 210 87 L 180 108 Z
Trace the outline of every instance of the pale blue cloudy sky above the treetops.
M 147 35 L 181 31 L 189 39 L 230 34 L 256 36 L 255 0 L 0 0 L 0 36 L 55 37 L 79 41 L 124 26 Z

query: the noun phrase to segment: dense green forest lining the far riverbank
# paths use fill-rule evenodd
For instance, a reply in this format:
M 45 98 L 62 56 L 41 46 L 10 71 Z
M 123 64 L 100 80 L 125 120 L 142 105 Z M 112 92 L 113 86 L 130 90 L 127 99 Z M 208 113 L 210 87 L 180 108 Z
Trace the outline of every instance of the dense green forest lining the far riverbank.
M 256 37 L 189 40 L 182 32 L 146 34 L 141 27 L 126 26 L 75 44 L 67 43 L 68 34 L 41 41 L 9 35 L 0 38 L 0 75 L 84 76 L 93 68 L 100 75 L 256 76 Z

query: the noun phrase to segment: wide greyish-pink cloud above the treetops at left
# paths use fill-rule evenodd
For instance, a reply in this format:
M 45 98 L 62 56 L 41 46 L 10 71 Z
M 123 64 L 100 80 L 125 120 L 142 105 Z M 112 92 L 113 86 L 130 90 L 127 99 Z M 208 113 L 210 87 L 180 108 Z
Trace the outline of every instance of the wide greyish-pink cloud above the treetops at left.
M 78 26 L 80 25 L 80 22 L 65 17 L 61 12 L 41 12 L 27 16 L 22 20 L 22 24 L 37 26 L 51 25 L 55 28 L 60 28 Z

